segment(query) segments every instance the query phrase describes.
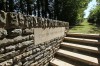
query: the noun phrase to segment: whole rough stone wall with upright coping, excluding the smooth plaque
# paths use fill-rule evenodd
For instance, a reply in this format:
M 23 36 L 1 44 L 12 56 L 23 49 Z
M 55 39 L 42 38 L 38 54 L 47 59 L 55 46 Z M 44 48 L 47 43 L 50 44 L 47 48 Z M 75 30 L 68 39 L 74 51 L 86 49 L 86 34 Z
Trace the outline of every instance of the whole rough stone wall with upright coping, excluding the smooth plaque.
M 0 11 L 0 66 L 48 66 L 63 36 L 35 45 L 34 28 L 56 27 L 68 23 Z

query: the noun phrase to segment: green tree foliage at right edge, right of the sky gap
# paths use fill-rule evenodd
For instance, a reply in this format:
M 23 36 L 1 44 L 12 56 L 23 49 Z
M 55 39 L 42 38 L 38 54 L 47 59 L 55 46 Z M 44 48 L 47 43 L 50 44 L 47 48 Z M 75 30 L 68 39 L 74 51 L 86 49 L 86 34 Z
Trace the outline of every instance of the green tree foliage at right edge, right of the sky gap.
M 88 21 L 100 25 L 100 0 L 97 0 L 97 6 L 91 11 Z

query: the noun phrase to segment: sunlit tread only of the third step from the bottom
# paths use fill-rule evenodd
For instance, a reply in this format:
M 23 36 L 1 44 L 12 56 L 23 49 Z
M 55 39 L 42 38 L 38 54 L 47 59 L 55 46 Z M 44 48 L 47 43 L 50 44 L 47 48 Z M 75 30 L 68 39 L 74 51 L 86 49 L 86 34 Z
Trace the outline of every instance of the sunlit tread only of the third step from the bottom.
M 80 48 L 80 49 L 83 48 L 83 49 L 87 49 L 87 50 L 98 51 L 98 47 L 85 46 L 85 45 L 80 45 L 80 44 L 76 44 L 76 43 L 62 42 L 61 45 L 72 46 L 72 47 L 76 47 L 76 48 Z

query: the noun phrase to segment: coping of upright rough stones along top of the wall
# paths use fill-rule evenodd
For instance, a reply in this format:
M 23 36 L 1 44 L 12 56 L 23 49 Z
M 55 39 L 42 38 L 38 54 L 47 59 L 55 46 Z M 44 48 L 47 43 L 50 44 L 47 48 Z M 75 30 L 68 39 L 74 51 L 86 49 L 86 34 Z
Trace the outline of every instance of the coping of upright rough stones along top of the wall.
M 68 27 L 68 22 L 52 20 L 48 18 L 23 15 L 15 12 L 0 11 L 0 28 L 51 28 Z

